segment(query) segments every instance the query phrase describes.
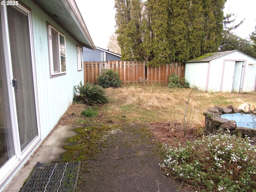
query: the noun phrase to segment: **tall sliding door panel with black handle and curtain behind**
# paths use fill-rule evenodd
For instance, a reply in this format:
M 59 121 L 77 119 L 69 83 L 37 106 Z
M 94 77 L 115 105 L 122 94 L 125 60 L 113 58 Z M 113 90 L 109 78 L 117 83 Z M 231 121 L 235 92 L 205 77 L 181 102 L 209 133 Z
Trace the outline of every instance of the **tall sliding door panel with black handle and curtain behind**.
M 21 150 L 24 150 L 38 136 L 29 18 L 26 12 L 15 6 L 7 6 L 7 15 L 12 56 L 12 84 L 15 91 L 20 146 Z

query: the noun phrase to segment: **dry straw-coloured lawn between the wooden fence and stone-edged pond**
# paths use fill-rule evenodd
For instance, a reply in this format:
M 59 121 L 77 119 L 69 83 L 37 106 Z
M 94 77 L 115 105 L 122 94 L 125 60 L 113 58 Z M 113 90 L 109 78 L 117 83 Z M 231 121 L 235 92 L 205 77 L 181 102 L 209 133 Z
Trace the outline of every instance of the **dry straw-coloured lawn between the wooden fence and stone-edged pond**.
M 256 106 L 256 92 L 208 93 L 189 88 L 168 88 L 164 85 L 128 85 L 106 89 L 110 102 L 99 107 L 98 118 L 86 120 L 102 123 L 175 122 L 183 124 L 190 92 L 192 93 L 186 114 L 186 125 L 190 128 L 204 127 L 203 112 L 209 107 L 228 105 L 238 107 L 244 102 Z M 60 120 L 60 124 L 74 124 L 81 119 L 80 112 L 86 107 L 84 104 L 73 104 Z

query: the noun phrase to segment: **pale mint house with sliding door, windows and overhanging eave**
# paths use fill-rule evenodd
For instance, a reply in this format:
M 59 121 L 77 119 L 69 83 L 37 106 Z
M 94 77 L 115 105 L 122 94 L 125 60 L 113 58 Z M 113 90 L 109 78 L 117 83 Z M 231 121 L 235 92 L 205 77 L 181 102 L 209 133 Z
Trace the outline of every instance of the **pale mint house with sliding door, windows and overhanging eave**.
M 83 46 L 95 50 L 75 0 L 1 1 L 0 192 L 84 83 Z

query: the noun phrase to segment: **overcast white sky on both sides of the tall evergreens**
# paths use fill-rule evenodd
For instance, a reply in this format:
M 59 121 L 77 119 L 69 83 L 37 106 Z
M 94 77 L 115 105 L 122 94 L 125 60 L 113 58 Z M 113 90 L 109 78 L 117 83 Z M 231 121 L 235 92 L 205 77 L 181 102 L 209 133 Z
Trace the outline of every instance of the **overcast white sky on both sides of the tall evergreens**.
M 107 48 L 111 34 L 115 32 L 115 0 L 76 0 L 76 4 L 83 16 L 86 27 L 94 45 Z M 249 34 L 256 25 L 256 0 L 227 0 L 224 13 L 234 13 L 237 22 L 243 18 L 244 23 L 234 30 L 242 38 L 249 38 Z

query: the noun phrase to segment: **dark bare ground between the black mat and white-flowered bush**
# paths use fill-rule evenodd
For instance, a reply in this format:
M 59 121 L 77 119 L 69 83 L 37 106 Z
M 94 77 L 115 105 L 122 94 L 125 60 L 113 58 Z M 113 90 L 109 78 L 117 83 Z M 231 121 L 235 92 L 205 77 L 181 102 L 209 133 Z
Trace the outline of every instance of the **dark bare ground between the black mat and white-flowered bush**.
M 160 169 L 160 146 L 147 131 L 150 125 L 124 125 L 106 134 L 106 146 L 84 162 L 80 192 L 179 191 L 175 182 Z M 83 178 L 83 179 L 81 179 Z

